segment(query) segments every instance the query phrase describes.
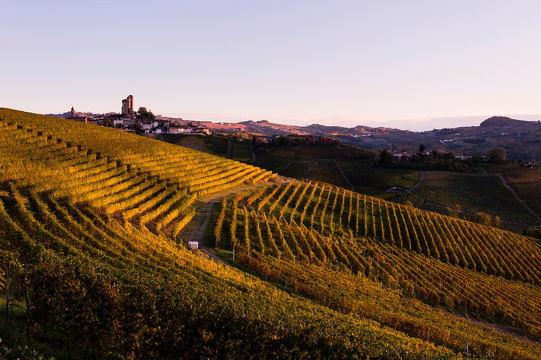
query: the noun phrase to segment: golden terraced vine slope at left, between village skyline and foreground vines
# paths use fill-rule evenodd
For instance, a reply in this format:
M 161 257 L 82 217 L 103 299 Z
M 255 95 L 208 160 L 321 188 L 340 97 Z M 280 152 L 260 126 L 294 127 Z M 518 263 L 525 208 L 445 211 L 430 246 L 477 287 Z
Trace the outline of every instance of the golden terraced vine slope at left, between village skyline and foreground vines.
M 26 125 L 31 115 L 16 114 L 27 120 L 16 122 L 0 117 L 1 182 L 15 181 L 55 198 L 87 202 L 140 229 L 147 226 L 168 236 L 176 236 L 192 219 L 190 205 L 197 196 L 266 181 L 272 176 L 269 171 L 204 152 L 179 146 L 169 149 L 168 144 L 159 141 L 144 139 L 149 144 L 135 145 L 137 136 L 101 126 L 34 115 L 53 124 L 63 123 L 65 128 L 56 133 L 47 126 L 48 130 L 39 130 L 37 124 Z M 80 131 L 88 136 L 64 140 L 77 138 L 70 134 Z M 114 137 L 111 145 L 110 135 Z M 87 141 L 94 138 L 101 138 L 102 145 L 95 144 L 98 147 L 91 150 Z M 115 146 L 121 142 L 139 152 L 116 151 Z M 147 153 L 147 148 L 152 148 L 153 155 Z M 109 152 L 118 152 L 118 157 L 104 155 Z

